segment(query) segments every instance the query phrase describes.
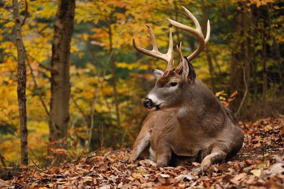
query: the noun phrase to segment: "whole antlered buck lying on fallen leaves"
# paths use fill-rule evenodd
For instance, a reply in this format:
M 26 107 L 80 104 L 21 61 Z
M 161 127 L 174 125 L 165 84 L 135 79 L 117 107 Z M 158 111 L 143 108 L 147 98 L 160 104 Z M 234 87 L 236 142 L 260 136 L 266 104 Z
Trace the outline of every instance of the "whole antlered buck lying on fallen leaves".
M 131 162 L 139 157 L 157 162 L 157 167 L 176 166 L 184 161 L 200 162 L 199 171 L 207 169 L 237 154 L 243 143 L 243 132 L 231 110 L 219 102 L 212 91 L 196 78 L 189 62 L 208 44 L 210 23 L 204 36 L 197 19 L 182 7 L 196 29 L 167 19 L 171 25 L 193 34 L 199 47 L 183 57 L 181 43 L 177 46 L 180 63 L 173 69 L 172 32 L 166 54 L 159 52 L 153 30 L 147 25 L 153 50 L 133 46 L 143 54 L 167 62 L 166 71 L 153 70 L 156 85 L 143 101 L 151 111 L 134 143 Z

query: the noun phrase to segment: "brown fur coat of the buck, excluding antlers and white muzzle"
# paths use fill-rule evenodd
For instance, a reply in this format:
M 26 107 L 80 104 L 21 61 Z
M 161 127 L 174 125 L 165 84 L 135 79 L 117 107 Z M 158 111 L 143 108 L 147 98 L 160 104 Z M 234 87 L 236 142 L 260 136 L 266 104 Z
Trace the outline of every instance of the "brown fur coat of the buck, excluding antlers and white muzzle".
M 147 116 L 133 146 L 131 161 L 143 154 L 142 158 L 156 160 L 158 167 L 197 161 L 204 170 L 236 155 L 241 148 L 243 133 L 237 120 L 195 79 L 189 64 L 186 73 L 166 71 L 149 93 L 148 96 L 163 100 L 161 111 Z M 191 77 L 189 74 L 193 73 Z M 172 81 L 178 82 L 176 88 L 169 86 Z M 142 145 L 145 136 L 148 143 Z

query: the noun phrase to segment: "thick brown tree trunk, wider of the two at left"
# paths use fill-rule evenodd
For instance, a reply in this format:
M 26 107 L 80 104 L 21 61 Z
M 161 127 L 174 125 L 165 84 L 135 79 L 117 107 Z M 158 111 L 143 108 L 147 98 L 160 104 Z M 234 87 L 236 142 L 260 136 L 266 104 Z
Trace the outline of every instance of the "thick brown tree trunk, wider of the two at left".
M 54 23 L 51 56 L 51 98 L 49 140 L 67 148 L 70 99 L 70 43 L 73 33 L 75 0 L 59 0 Z

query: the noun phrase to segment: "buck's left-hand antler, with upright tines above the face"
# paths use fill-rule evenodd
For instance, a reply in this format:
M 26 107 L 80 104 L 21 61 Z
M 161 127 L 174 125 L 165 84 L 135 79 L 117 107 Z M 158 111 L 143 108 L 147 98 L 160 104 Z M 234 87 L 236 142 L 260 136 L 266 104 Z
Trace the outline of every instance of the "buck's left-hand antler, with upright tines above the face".
M 170 70 L 173 67 L 174 64 L 174 60 L 173 60 L 173 42 L 172 42 L 172 34 L 171 34 L 171 28 L 169 29 L 169 45 L 168 45 L 168 50 L 166 54 L 163 54 L 161 52 L 159 52 L 158 47 L 157 47 L 157 42 L 156 42 L 156 37 L 155 34 L 152 30 L 152 28 L 146 24 L 146 26 L 148 27 L 149 30 L 149 34 L 151 37 L 151 41 L 153 43 L 153 49 L 152 50 L 147 50 L 145 48 L 139 47 L 138 45 L 136 45 L 134 38 L 132 39 L 133 42 L 133 46 L 136 48 L 136 50 L 138 50 L 139 52 L 164 60 L 167 62 L 167 67 L 166 70 Z

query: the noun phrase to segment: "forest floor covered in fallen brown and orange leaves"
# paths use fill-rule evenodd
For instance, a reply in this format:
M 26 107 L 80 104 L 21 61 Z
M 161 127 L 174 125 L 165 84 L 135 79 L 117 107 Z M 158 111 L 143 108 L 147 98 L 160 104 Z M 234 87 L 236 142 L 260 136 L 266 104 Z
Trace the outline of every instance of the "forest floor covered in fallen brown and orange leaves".
M 128 163 L 131 150 L 90 155 L 60 167 L 32 168 L 0 174 L 2 188 L 131 189 L 131 188 L 284 188 L 284 117 L 239 122 L 245 135 L 236 157 L 212 165 L 202 175 L 200 166 L 186 163 L 155 169 L 150 160 Z

